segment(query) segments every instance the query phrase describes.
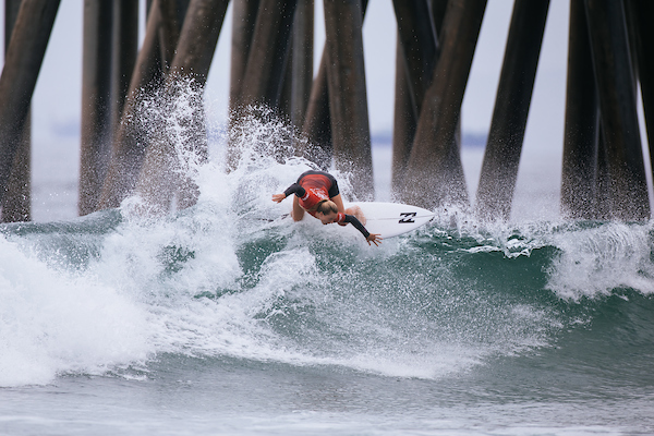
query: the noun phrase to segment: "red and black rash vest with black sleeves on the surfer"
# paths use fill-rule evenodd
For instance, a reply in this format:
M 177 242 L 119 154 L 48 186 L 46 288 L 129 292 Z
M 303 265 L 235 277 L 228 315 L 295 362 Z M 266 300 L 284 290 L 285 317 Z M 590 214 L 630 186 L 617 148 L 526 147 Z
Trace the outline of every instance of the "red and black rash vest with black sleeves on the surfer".
M 334 175 L 324 171 L 306 171 L 300 174 L 298 181 L 290 185 L 283 194 L 287 197 L 291 194 L 295 194 L 299 198 L 300 206 L 315 217 L 316 210 L 313 208 L 323 199 L 330 199 L 337 196 L 339 190 Z M 366 239 L 371 234 L 353 215 L 346 215 L 339 211 L 334 222 L 341 226 L 346 226 L 350 222 Z

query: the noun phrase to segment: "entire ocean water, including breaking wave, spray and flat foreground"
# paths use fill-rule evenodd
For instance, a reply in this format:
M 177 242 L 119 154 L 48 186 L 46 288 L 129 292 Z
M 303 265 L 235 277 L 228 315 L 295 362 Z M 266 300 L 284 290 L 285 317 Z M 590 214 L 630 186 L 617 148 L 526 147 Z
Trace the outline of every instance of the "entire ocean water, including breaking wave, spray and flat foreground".
M 0 226 L 0 434 L 654 434 L 653 222 L 562 220 L 540 160 L 511 221 L 371 247 L 270 201 L 311 168 L 287 140 L 250 125 L 229 174 L 213 145 L 165 217 L 73 218 L 74 174 L 36 180 L 37 221 Z

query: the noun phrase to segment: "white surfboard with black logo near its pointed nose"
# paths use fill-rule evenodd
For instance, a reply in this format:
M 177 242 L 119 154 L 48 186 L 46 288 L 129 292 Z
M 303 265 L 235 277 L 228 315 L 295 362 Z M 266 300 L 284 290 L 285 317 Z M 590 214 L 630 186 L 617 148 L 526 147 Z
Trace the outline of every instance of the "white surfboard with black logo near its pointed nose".
M 346 203 L 344 206 L 346 209 L 361 207 L 366 219 L 366 230 L 379 233 L 382 238 L 392 238 L 415 230 L 429 222 L 435 215 L 422 207 L 400 203 L 353 202 Z

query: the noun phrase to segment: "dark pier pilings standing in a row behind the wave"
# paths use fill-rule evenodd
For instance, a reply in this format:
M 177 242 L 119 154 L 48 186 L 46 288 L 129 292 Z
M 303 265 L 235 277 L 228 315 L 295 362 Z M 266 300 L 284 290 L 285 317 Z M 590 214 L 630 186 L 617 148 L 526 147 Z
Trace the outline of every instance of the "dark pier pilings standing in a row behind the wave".
M 397 24 L 389 29 L 397 33 L 397 46 L 388 50 L 396 70 L 393 199 L 431 209 L 456 205 L 480 219 L 509 219 L 550 1 L 512 1 L 475 198 L 469 197 L 461 165 L 461 106 L 486 0 L 375 1 L 392 4 Z M 646 168 L 654 168 L 654 3 L 566 3 L 561 215 L 647 220 Z M 32 97 L 59 7 L 59 0 L 4 0 L 4 222 L 31 219 Z M 322 51 L 314 50 L 317 7 L 325 20 Z M 231 33 L 221 32 L 228 8 Z M 266 107 L 305 140 L 292 144 L 298 156 L 348 174 L 358 199 L 374 199 L 362 33 L 367 8 L 367 0 L 148 0 L 140 16 L 137 1 L 85 1 L 78 214 L 118 207 L 133 193 L 153 210 L 195 203 L 196 186 L 181 175 L 166 132 L 146 135 L 137 108 L 148 95 L 175 98 L 184 92 L 181 84 L 191 83 L 202 95 L 209 68 L 230 72 L 230 128 L 249 108 Z M 138 46 L 140 21 L 145 37 Z M 229 64 L 215 64 L 221 38 L 231 40 Z M 187 123 L 195 133 L 184 152 L 202 162 L 208 156 L 203 101 L 193 101 L 191 112 Z M 228 144 L 226 170 L 238 157 Z

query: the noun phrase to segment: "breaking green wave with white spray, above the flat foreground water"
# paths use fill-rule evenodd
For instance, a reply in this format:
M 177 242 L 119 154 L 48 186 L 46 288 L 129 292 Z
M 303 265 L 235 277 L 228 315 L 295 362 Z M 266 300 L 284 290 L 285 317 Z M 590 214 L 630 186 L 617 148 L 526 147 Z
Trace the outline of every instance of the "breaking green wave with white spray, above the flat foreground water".
M 443 209 L 371 247 L 354 230 L 286 217 L 290 199 L 270 195 L 311 165 L 281 124 L 244 132 L 235 170 L 220 158 L 194 168 L 191 208 L 154 219 L 129 198 L 0 227 L 0 386 L 146 377 L 167 355 L 426 379 L 508 360 L 514 377 L 651 377 L 652 222 L 485 223 Z

